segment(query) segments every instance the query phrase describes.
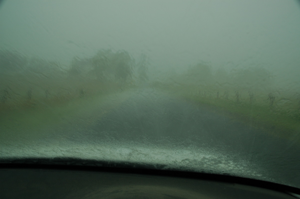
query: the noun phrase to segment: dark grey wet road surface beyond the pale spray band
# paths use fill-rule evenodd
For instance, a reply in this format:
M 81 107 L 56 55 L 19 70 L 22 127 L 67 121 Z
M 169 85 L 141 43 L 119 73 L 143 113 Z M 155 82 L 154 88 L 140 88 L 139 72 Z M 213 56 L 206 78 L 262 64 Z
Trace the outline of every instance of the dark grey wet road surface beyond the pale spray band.
M 299 142 L 271 136 L 216 109 L 153 89 L 131 92 L 90 128 L 93 140 L 113 138 L 174 149 L 214 149 L 232 159 L 259 165 L 260 172 L 279 182 L 300 182 Z

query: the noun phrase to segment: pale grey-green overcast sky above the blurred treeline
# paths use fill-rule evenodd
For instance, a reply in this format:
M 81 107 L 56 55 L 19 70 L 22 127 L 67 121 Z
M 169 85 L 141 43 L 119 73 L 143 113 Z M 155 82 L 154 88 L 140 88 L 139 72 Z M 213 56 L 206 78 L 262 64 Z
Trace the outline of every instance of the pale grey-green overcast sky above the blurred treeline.
M 66 65 L 74 56 L 113 48 L 135 58 L 145 53 L 156 69 L 180 71 L 204 61 L 300 75 L 300 4 L 9 0 L 0 4 L 0 48 Z

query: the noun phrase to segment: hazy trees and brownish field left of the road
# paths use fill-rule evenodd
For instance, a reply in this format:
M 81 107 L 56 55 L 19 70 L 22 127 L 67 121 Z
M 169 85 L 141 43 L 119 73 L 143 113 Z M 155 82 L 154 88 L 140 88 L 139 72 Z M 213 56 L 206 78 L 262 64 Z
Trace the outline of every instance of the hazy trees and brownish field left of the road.
M 144 67 L 144 73 L 136 72 L 137 67 Z M 136 64 L 127 51 L 111 49 L 99 50 L 92 57 L 74 57 L 70 66 L 1 50 L 0 110 L 58 104 L 124 90 L 138 84 L 135 77 L 139 74 L 146 79 L 146 67 L 145 60 Z

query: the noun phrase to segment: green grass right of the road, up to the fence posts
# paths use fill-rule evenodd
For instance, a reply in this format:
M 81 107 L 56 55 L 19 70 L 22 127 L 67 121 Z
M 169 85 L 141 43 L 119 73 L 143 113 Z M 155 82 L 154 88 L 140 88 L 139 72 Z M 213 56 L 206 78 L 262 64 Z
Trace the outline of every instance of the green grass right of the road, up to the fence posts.
M 259 99 L 258 96 L 256 96 L 256 102 L 253 103 L 250 103 L 249 99 L 240 99 L 237 102 L 235 96 L 228 99 L 223 96 L 217 98 L 217 91 L 213 92 L 214 95 L 203 96 L 199 93 L 190 92 L 190 90 L 193 90 L 193 86 L 190 85 L 174 86 L 161 83 L 154 86 L 192 103 L 210 106 L 232 119 L 258 127 L 263 132 L 274 136 L 295 139 L 295 136 L 299 137 L 300 135 L 300 111 L 297 110 L 297 107 L 294 107 L 291 111 L 291 107 L 278 108 L 270 106 L 270 103 L 266 100 L 267 97 L 265 99 L 260 97 L 262 99 Z

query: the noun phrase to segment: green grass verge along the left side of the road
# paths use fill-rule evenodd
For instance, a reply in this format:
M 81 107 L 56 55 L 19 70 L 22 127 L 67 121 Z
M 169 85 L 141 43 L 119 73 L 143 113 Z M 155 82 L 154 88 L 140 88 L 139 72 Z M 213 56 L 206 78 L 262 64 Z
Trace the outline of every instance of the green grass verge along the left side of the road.
M 112 98 L 119 97 L 112 101 Z M 107 87 L 83 97 L 61 96 L 50 99 L 32 99 L 14 106 L 0 107 L 0 141 L 37 139 L 53 129 L 77 125 L 92 125 L 95 119 L 109 112 L 128 98 L 127 90 L 118 86 Z M 4 104 L 5 105 L 5 104 Z M 93 114 L 95 116 L 93 116 Z M 8 142 L 7 142 L 8 143 Z

